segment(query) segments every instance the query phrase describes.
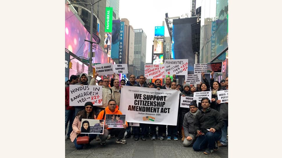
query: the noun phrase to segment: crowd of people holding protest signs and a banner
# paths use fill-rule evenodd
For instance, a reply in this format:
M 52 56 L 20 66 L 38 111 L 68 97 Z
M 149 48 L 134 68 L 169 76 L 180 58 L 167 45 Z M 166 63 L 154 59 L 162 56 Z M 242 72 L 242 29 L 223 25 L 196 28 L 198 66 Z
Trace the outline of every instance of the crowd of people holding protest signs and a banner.
M 96 78 L 99 74 L 95 73 L 89 85 L 96 85 Z M 125 121 L 123 128 L 108 128 L 104 125 L 103 134 L 89 134 L 89 142 L 93 139 L 101 141 L 101 145 L 106 144 L 106 139 L 117 137 L 116 143 L 125 144 L 124 138 L 134 137 L 135 141 L 140 138 L 146 141 L 146 137 L 151 136 L 151 140 L 178 140 L 182 137 L 183 146 L 192 146 L 195 151 L 204 150 L 204 154 L 211 154 L 218 150 L 221 146 L 227 146 L 227 128 L 228 128 L 228 103 L 221 103 L 217 98 L 217 91 L 228 90 L 228 77 L 219 81 L 214 81 L 214 72 L 210 73 L 210 82 L 205 78 L 205 73 L 202 72 L 203 82 L 195 86 L 188 83 L 177 84 L 176 75 L 173 79 L 170 77 L 165 78 L 165 84 L 161 84 L 160 79 L 154 82 L 147 83 L 144 75 L 129 76 L 129 81 L 124 79 L 120 80 L 115 78 L 104 78 L 98 81 L 98 85 L 102 86 L 102 106 L 93 106 L 91 102 L 86 102 L 83 106 L 69 106 L 69 85 L 88 85 L 88 76 L 81 73 L 80 76 L 72 75 L 65 85 L 65 135 L 67 139 L 74 142 L 76 149 L 88 148 L 90 144 L 76 144 L 76 139 L 79 136 L 88 136 L 81 134 L 79 130 L 81 127 L 81 119 L 100 119 L 105 120 L 105 114 L 112 115 L 113 120 L 119 120 L 120 95 L 122 86 L 138 86 L 147 88 L 172 89 L 179 91 L 179 102 L 181 96 L 193 97 L 194 92 L 211 91 L 211 100 L 202 98 L 201 102 L 197 104 L 196 100 L 190 103 L 189 108 L 178 108 L 177 125 L 158 125 L 158 124 L 142 124 L 140 126 L 129 126 Z M 115 75 L 113 75 L 115 76 Z M 67 130 L 67 124 L 69 129 Z M 85 124 L 85 125 L 84 125 Z M 89 123 L 83 122 L 83 127 L 87 130 L 86 126 Z M 126 132 L 126 135 L 125 135 Z M 167 135 L 166 135 L 167 133 Z

